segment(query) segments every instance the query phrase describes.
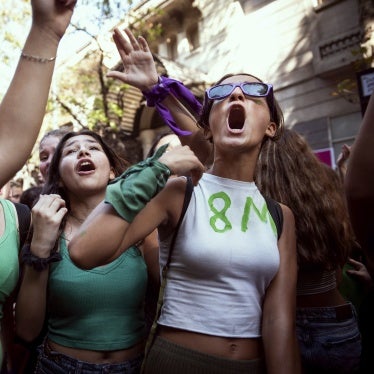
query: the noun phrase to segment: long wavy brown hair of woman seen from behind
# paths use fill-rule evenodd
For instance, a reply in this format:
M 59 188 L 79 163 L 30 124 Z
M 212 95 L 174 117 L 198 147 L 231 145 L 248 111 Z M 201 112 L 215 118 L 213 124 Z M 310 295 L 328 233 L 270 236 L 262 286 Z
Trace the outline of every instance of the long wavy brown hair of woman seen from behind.
M 300 267 L 343 266 L 357 248 L 339 176 L 314 155 L 304 138 L 285 129 L 261 149 L 255 181 L 265 196 L 294 213 Z

